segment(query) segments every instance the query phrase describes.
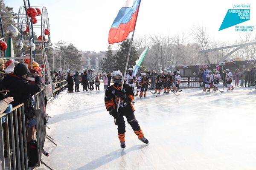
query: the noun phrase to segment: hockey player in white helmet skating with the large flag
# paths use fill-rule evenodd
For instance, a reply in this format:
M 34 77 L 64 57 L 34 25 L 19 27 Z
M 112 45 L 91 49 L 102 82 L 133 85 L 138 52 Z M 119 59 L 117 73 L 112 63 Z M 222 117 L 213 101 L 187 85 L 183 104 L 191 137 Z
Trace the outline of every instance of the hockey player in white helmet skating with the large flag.
M 116 119 L 116 125 L 118 130 L 118 137 L 120 145 L 125 148 L 125 120 L 131 125 L 134 133 L 138 136 L 140 141 L 148 144 L 148 140 L 144 137 L 143 131 L 140 128 L 135 116 L 134 107 L 131 102 L 134 100 L 134 92 L 131 85 L 124 84 L 122 86 L 122 73 L 120 71 L 113 71 L 111 74 L 113 85 L 108 87 L 105 91 L 105 106 L 109 114 Z M 118 102 L 120 98 L 119 110 L 117 110 Z

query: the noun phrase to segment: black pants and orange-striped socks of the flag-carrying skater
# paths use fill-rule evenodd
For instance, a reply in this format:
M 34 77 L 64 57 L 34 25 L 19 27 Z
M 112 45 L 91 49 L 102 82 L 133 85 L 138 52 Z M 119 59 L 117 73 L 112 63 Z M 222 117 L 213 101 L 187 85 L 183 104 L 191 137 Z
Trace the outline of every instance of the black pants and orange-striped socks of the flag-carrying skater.
M 118 130 L 118 138 L 120 142 L 125 142 L 125 119 L 124 116 L 127 119 L 127 122 L 131 125 L 131 128 L 134 130 L 134 133 L 139 137 L 143 138 L 144 134 L 143 131 L 140 128 L 140 125 L 138 124 L 134 112 L 122 112 L 120 113 L 119 117 L 116 119 L 116 125 Z

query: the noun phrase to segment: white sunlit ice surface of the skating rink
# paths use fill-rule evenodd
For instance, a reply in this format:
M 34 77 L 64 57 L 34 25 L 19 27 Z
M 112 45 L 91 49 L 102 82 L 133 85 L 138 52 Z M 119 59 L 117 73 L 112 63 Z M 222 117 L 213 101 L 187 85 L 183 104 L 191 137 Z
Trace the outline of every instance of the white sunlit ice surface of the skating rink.
M 43 160 L 55 170 L 255 170 L 256 90 L 136 98 L 135 114 L 149 145 L 126 124 L 126 148 L 105 110 L 104 91 L 63 92 L 47 107 L 52 118 Z M 81 89 L 81 87 L 80 87 Z M 222 88 L 221 88 L 222 90 Z M 81 90 L 80 90 L 81 91 Z M 48 140 L 47 140 L 48 141 Z M 45 169 L 44 166 L 38 169 Z

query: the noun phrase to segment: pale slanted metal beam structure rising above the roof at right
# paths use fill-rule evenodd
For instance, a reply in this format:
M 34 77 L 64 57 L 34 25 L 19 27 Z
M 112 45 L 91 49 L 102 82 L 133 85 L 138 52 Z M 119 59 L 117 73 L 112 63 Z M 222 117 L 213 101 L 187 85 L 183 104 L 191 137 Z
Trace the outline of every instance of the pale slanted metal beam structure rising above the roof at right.
M 238 45 L 230 45 L 226 47 L 219 47 L 219 48 L 212 48 L 208 50 L 201 50 L 198 51 L 198 54 L 203 54 L 204 57 L 207 59 L 208 64 L 211 64 L 211 61 L 215 62 L 224 62 L 231 54 L 240 50 L 241 48 L 247 47 L 249 45 L 255 45 L 256 42 L 249 42 L 244 44 Z M 232 51 L 230 51 L 232 49 Z M 227 51 L 225 51 L 227 50 Z

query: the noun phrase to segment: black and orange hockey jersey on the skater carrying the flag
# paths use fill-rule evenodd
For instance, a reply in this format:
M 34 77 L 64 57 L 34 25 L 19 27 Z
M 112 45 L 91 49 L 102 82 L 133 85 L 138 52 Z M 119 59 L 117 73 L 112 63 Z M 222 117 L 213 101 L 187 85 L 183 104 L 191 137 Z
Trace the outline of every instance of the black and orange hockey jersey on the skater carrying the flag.
M 119 97 L 116 96 L 116 91 L 121 91 L 121 87 L 111 85 L 105 91 L 105 106 L 107 111 L 111 111 L 112 108 L 116 109 L 119 101 Z M 119 111 L 134 112 L 134 107 L 131 102 L 134 100 L 134 91 L 131 85 L 124 84 L 123 91 L 126 94 L 126 99 L 120 100 Z

